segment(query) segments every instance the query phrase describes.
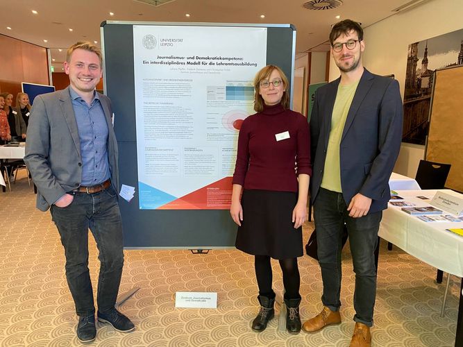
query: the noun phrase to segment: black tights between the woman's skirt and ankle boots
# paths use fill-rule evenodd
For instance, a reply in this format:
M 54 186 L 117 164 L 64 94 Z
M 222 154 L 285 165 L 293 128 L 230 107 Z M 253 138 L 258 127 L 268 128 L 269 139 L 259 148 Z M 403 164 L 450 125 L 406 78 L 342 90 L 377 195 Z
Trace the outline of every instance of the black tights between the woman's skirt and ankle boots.
M 281 271 L 283 272 L 283 285 L 285 285 L 285 298 L 301 298 L 299 295 L 299 286 L 301 278 L 297 267 L 297 258 L 278 260 Z M 255 255 L 255 277 L 258 279 L 259 295 L 274 298 L 275 293 L 271 289 L 271 264 L 268 255 Z

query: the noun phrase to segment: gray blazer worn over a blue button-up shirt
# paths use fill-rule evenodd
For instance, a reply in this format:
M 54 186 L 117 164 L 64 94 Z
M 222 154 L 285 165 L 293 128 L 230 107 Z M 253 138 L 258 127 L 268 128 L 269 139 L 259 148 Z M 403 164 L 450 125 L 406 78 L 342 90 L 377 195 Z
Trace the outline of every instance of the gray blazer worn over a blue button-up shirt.
M 108 124 L 108 159 L 112 186 L 119 187 L 117 141 L 111 122 L 111 101 L 98 94 Z M 37 208 L 47 211 L 82 180 L 81 143 L 69 87 L 34 99 L 24 162 L 37 186 Z

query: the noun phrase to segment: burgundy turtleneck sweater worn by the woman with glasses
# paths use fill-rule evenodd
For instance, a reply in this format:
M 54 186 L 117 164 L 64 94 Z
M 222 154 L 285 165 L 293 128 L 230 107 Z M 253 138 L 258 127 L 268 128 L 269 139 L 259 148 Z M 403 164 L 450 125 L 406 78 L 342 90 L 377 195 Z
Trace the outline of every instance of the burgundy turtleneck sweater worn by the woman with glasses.
M 297 192 L 299 174 L 312 174 L 307 119 L 280 104 L 265 105 L 262 112 L 244 119 L 233 184 L 244 189 Z

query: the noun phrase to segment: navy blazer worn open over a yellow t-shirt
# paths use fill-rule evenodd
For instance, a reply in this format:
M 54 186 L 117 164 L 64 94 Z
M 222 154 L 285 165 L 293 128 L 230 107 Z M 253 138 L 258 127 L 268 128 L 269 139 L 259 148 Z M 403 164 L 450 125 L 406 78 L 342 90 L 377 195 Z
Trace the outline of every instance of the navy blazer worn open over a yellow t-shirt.
M 332 109 L 340 79 L 323 85 L 315 93 L 310 117 L 312 203 L 317 199 L 323 178 Z M 389 176 L 401 149 L 402 121 L 403 103 L 398 82 L 364 69 L 348 111 L 339 149 L 341 187 L 346 205 L 360 193 L 372 199 L 369 212 L 387 208 Z

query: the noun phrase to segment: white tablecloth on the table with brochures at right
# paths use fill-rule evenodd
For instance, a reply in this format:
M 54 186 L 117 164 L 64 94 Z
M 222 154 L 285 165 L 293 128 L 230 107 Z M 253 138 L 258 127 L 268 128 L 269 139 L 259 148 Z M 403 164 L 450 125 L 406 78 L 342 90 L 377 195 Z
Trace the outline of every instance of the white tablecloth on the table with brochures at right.
M 457 194 L 449 189 L 441 191 Z M 403 190 L 398 191 L 398 195 L 420 207 L 429 205 L 430 200 L 416 196 L 432 198 L 435 192 Z M 463 198 L 462 194 L 457 195 Z M 447 228 L 463 228 L 463 221 L 425 222 L 403 212 L 401 207 L 389 204 L 387 210 L 383 211 L 378 235 L 437 269 L 463 277 L 463 237 L 446 231 Z

